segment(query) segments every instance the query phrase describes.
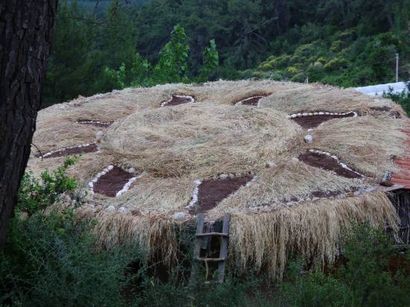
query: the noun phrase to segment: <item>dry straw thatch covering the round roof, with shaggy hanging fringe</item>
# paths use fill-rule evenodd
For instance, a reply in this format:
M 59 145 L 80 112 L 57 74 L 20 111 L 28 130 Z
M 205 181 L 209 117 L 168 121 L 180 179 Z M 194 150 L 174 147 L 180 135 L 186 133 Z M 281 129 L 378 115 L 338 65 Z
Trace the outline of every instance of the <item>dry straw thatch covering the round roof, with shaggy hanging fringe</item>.
M 161 107 L 171 95 L 193 96 L 195 103 Z M 256 95 L 264 96 L 257 106 L 235 105 Z M 289 118 L 309 111 L 360 116 L 329 120 L 313 131 Z M 114 123 L 95 127 L 77 123 L 81 119 Z M 187 206 L 198 182 L 252 176 L 206 216 L 212 221 L 231 213 L 233 265 L 280 278 L 292 253 L 331 263 L 354 221 L 395 229 L 396 213 L 379 182 L 395 170 L 393 157 L 405 154 L 400 129 L 407 121 L 392 101 L 353 90 L 219 81 L 125 89 L 55 105 L 39 113 L 33 143 L 45 153 L 98 142 L 98 152 L 82 155 L 69 170 L 85 190 L 108 165 L 136 172 L 128 192 L 116 198 L 89 193 L 78 215 L 96 218 L 102 245 L 135 241 L 167 263 L 176 259 L 178 225 L 195 218 Z M 305 143 L 306 134 L 312 143 Z M 305 164 L 298 157 L 309 149 L 336 156 L 363 177 Z M 33 148 L 29 161 L 35 173 L 64 160 L 41 160 L 35 153 Z

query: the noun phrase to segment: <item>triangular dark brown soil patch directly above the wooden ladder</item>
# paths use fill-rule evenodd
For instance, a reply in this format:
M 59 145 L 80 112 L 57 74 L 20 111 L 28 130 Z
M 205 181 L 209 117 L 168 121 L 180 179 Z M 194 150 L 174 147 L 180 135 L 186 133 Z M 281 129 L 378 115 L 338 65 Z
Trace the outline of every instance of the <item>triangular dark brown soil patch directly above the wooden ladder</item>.
M 221 200 L 228 197 L 251 180 L 252 176 L 243 176 L 203 181 L 199 185 L 197 212 L 206 212 L 214 208 Z

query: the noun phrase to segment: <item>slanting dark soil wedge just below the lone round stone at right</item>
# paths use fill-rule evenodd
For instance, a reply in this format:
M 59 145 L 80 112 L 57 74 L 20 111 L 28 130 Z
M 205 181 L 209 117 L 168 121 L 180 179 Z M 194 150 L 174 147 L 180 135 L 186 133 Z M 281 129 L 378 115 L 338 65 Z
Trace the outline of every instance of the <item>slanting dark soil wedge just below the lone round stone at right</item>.
M 343 168 L 335 159 L 329 157 L 326 154 L 307 151 L 299 155 L 299 160 L 313 167 L 333 171 L 339 176 L 346 178 L 361 178 L 359 174 Z

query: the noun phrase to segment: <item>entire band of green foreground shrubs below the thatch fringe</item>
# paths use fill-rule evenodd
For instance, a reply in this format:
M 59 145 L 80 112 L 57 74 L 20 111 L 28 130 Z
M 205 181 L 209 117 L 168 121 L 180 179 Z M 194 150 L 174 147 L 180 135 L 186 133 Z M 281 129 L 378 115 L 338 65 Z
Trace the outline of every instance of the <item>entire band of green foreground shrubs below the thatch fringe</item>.
M 93 221 L 79 222 L 72 209 L 50 210 L 55 201 L 64 193 L 72 192 L 75 186 L 75 181 L 65 174 L 70 163 L 66 161 L 57 171 L 42 175 L 40 180 L 30 177 L 22 182 L 19 208 L 6 248 L 0 252 L 0 305 L 410 304 L 410 253 L 399 253 L 383 232 L 367 225 L 358 225 L 346 235 L 343 263 L 326 273 L 306 271 L 304 261 L 296 260 L 290 263 L 281 283 L 263 275 L 249 274 L 245 277 L 228 275 L 222 285 L 205 284 L 201 278 L 189 284 L 191 257 L 186 255 L 166 278 L 161 278 L 152 273 L 160 263 L 147 264 L 144 251 L 139 247 L 97 248 L 92 234 Z M 30 191 L 31 188 L 34 190 Z M 50 193 L 48 198 L 47 193 Z M 47 214 L 44 213 L 46 207 Z

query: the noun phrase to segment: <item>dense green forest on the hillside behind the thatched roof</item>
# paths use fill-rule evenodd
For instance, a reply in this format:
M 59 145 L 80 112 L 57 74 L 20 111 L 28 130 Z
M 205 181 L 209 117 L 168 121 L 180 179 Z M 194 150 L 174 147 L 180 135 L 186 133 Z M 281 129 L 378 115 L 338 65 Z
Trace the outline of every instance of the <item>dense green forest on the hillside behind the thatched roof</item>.
M 114 88 L 268 78 L 343 87 L 410 75 L 410 0 L 61 1 L 46 105 Z

